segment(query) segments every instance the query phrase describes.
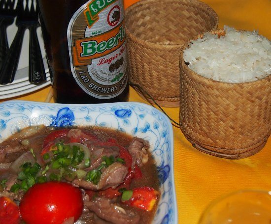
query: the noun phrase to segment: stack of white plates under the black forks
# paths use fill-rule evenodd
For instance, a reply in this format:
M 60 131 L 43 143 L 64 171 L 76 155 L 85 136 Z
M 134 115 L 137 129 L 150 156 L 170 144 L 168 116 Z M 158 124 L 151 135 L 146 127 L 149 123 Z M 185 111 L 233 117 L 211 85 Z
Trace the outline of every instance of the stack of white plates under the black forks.
M 17 27 L 15 26 L 15 24 L 7 28 L 7 38 L 8 38 L 9 46 L 11 45 L 13 41 L 16 31 L 17 31 Z M 46 82 L 43 84 L 34 85 L 34 84 L 30 84 L 28 81 L 29 30 L 26 30 L 24 40 L 23 40 L 23 47 L 22 47 L 22 51 L 20 55 L 20 60 L 18 64 L 18 69 L 15 75 L 14 81 L 11 84 L 0 85 L 0 99 L 7 99 L 7 98 L 31 93 L 35 90 L 38 90 L 44 86 L 51 84 L 40 28 L 37 29 L 37 36 L 39 39 L 41 54 L 43 56 L 43 62 L 44 62 L 44 67 L 45 67 L 45 72 L 46 72 L 46 77 L 47 77 Z

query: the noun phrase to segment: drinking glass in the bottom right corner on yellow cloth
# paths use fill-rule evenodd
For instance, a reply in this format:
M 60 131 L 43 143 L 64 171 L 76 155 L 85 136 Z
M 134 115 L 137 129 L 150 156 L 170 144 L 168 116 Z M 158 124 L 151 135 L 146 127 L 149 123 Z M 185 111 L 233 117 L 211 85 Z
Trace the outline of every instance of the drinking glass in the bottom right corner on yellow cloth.
M 199 224 L 271 224 L 271 191 L 241 190 L 213 201 Z

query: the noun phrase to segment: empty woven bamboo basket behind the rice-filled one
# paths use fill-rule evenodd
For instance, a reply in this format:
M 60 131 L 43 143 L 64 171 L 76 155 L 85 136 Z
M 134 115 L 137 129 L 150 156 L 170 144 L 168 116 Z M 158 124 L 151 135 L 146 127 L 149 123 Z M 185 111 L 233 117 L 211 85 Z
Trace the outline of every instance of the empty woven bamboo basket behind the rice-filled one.
M 125 20 L 130 82 L 161 106 L 179 107 L 180 49 L 217 28 L 217 14 L 198 0 L 141 0 L 126 10 Z

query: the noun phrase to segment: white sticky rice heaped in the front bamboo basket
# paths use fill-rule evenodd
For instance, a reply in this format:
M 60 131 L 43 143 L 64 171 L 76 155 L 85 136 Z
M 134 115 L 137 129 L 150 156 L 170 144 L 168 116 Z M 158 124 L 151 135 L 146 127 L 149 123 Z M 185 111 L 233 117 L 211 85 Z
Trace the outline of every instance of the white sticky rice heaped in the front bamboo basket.
M 184 50 L 184 61 L 199 75 L 225 83 L 245 83 L 271 74 L 271 41 L 257 31 L 224 27 L 225 36 L 205 33 Z

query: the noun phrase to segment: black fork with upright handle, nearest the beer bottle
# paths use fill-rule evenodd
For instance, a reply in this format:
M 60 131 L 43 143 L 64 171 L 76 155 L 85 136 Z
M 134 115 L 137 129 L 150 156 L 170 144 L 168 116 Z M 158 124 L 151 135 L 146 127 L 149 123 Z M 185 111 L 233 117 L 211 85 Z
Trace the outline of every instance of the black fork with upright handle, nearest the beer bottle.
M 33 24 L 30 26 L 30 42 L 29 42 L 29 82 L 31 84 L 40 84 L 46 81 L 46 73 L 44 69 L 43 58 L 40 52 L 40 46 L 37 38 L 36 28 L 39 27 L 38 13 L 34 8 L 34 1 L 31 3 L 30 15 Z

